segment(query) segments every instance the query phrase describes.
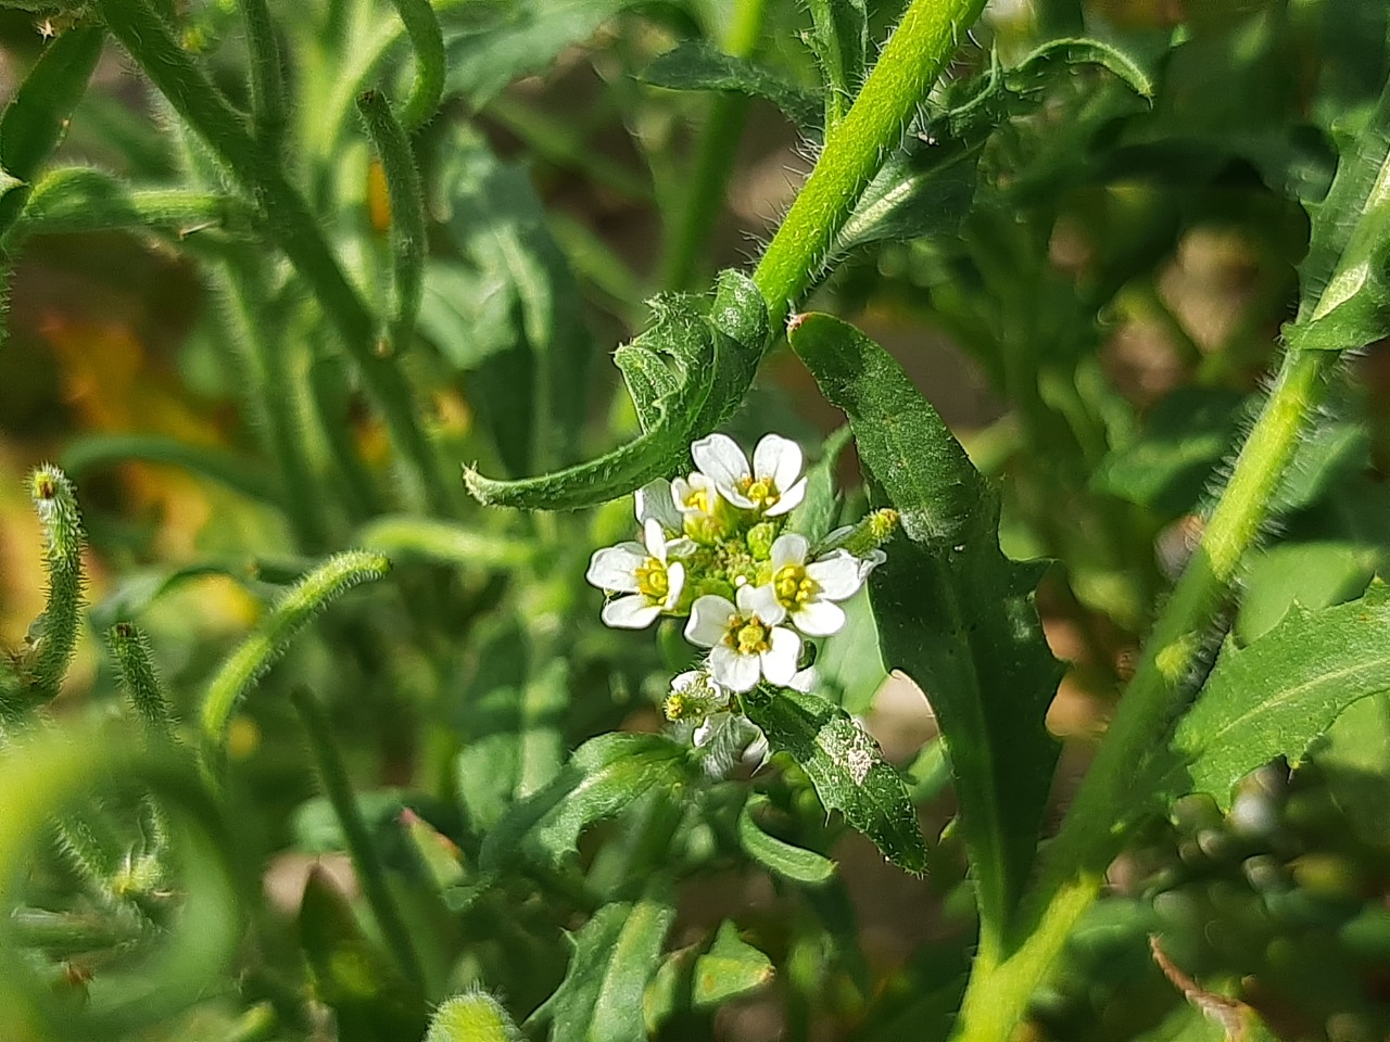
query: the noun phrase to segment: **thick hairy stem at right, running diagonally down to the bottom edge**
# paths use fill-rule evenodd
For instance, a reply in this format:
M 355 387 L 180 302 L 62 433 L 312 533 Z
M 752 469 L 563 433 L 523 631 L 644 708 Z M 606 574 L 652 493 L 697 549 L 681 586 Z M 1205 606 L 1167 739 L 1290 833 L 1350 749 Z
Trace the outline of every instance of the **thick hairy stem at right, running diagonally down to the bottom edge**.
M 1099 895 L 1105 870 L 1119 850 L 1118 825 L 1130 820 L 1147 796 L 1137 791 L 1143 766 L 1183 709 L 1212 620 L 1269 515 L 1337 361 L 1333 352 L 1284 356 L 1197 552 L 1144 646 L 1119 713 L 1061 832 L 1045 850 L 1038 886 L 1019 917 L 1016 935 L 1024 941 L 998 961 L 980 960 L 972 973 L 958 1042 L 1005 1042 L 1011 1036 L 1076 920 Z

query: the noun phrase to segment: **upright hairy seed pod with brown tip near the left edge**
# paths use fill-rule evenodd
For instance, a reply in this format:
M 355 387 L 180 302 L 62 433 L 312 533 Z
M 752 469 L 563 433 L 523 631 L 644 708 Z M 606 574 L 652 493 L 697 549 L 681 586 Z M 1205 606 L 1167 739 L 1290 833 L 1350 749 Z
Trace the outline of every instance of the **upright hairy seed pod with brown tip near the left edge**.
M 72 483 L 57 467 L 44 464 L 29 478 L 29 495 L 43 525 L 49 602 L 29 629 L 22 656 L 32 700 L 58 693 L 78 642 L 82 607 L 82 515 Z

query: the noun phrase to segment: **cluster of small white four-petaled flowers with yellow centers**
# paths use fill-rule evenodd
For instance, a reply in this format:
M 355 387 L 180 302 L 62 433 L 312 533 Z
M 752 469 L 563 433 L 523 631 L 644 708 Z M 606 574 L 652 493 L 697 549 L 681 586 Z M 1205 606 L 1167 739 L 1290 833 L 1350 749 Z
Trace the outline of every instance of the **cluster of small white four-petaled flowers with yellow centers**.
M 610 627 L 688 617 L 685 638 L 709 654 L 676 678 L 666 716 L 694 722 L 695 743 L 706 745 L 727 732 L 731 696 L 760 682 L 792 686 L 803 638 L 844 627 L 840 603 L 884 560 L 877 546 L 897 515 L 878 511 L 812 543 L 790 531 L 806 496 L 795 442 L 767 435 L 749 464 L 716 433 L 691 445 L 691 458 L 692 474 L 637 493 L 641 540 L 595 552 L 587 578 L 616 595 L 603 606 Z

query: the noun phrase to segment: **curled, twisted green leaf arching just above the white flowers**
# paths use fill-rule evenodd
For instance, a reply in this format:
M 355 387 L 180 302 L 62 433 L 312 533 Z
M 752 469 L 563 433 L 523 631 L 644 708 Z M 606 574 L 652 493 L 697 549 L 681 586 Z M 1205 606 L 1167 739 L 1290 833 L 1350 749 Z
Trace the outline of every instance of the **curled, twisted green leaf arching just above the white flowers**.
M 537 478 L 495 481 L 466 468 L 474 497 L 488 506 L 574 510 L 624 496 L 688 463 L 689 443 L 728 420 L 752 386 L 771 336 L 767 304 L 748 276 L 724 271 L 708 317 L 688 296 L 657 297 L 652 310 L 652 326 L 630 349 L 648 352 L 648 367 L 670 358 L 674 383 L 659 385 L 648 374 L 639 385 L 644 396 L 648 388 L 673 388 L 642 403 L 646 429 L 598 460 Z M 623 356 L 624 372 L 635 368 L 635 357 Z

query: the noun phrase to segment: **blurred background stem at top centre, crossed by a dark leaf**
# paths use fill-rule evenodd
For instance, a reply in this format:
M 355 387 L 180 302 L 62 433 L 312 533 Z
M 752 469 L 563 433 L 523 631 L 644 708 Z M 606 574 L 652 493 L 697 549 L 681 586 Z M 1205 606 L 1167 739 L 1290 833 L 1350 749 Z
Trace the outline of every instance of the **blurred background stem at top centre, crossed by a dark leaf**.
M 738 0 L 724 38 L 724 50 L 735 58 L 751 58 L 758 50 L 767 13 L 766 0 Z M 709 233 L 728 190 L 734 153 L 744 136 L 748 97 L 735 93 L 716 94 L 701 135 L 699 154 L 691 175 L 685 206 L 667 240 L 662 258 L 662 288 L 691 289 L 709 246 Z

